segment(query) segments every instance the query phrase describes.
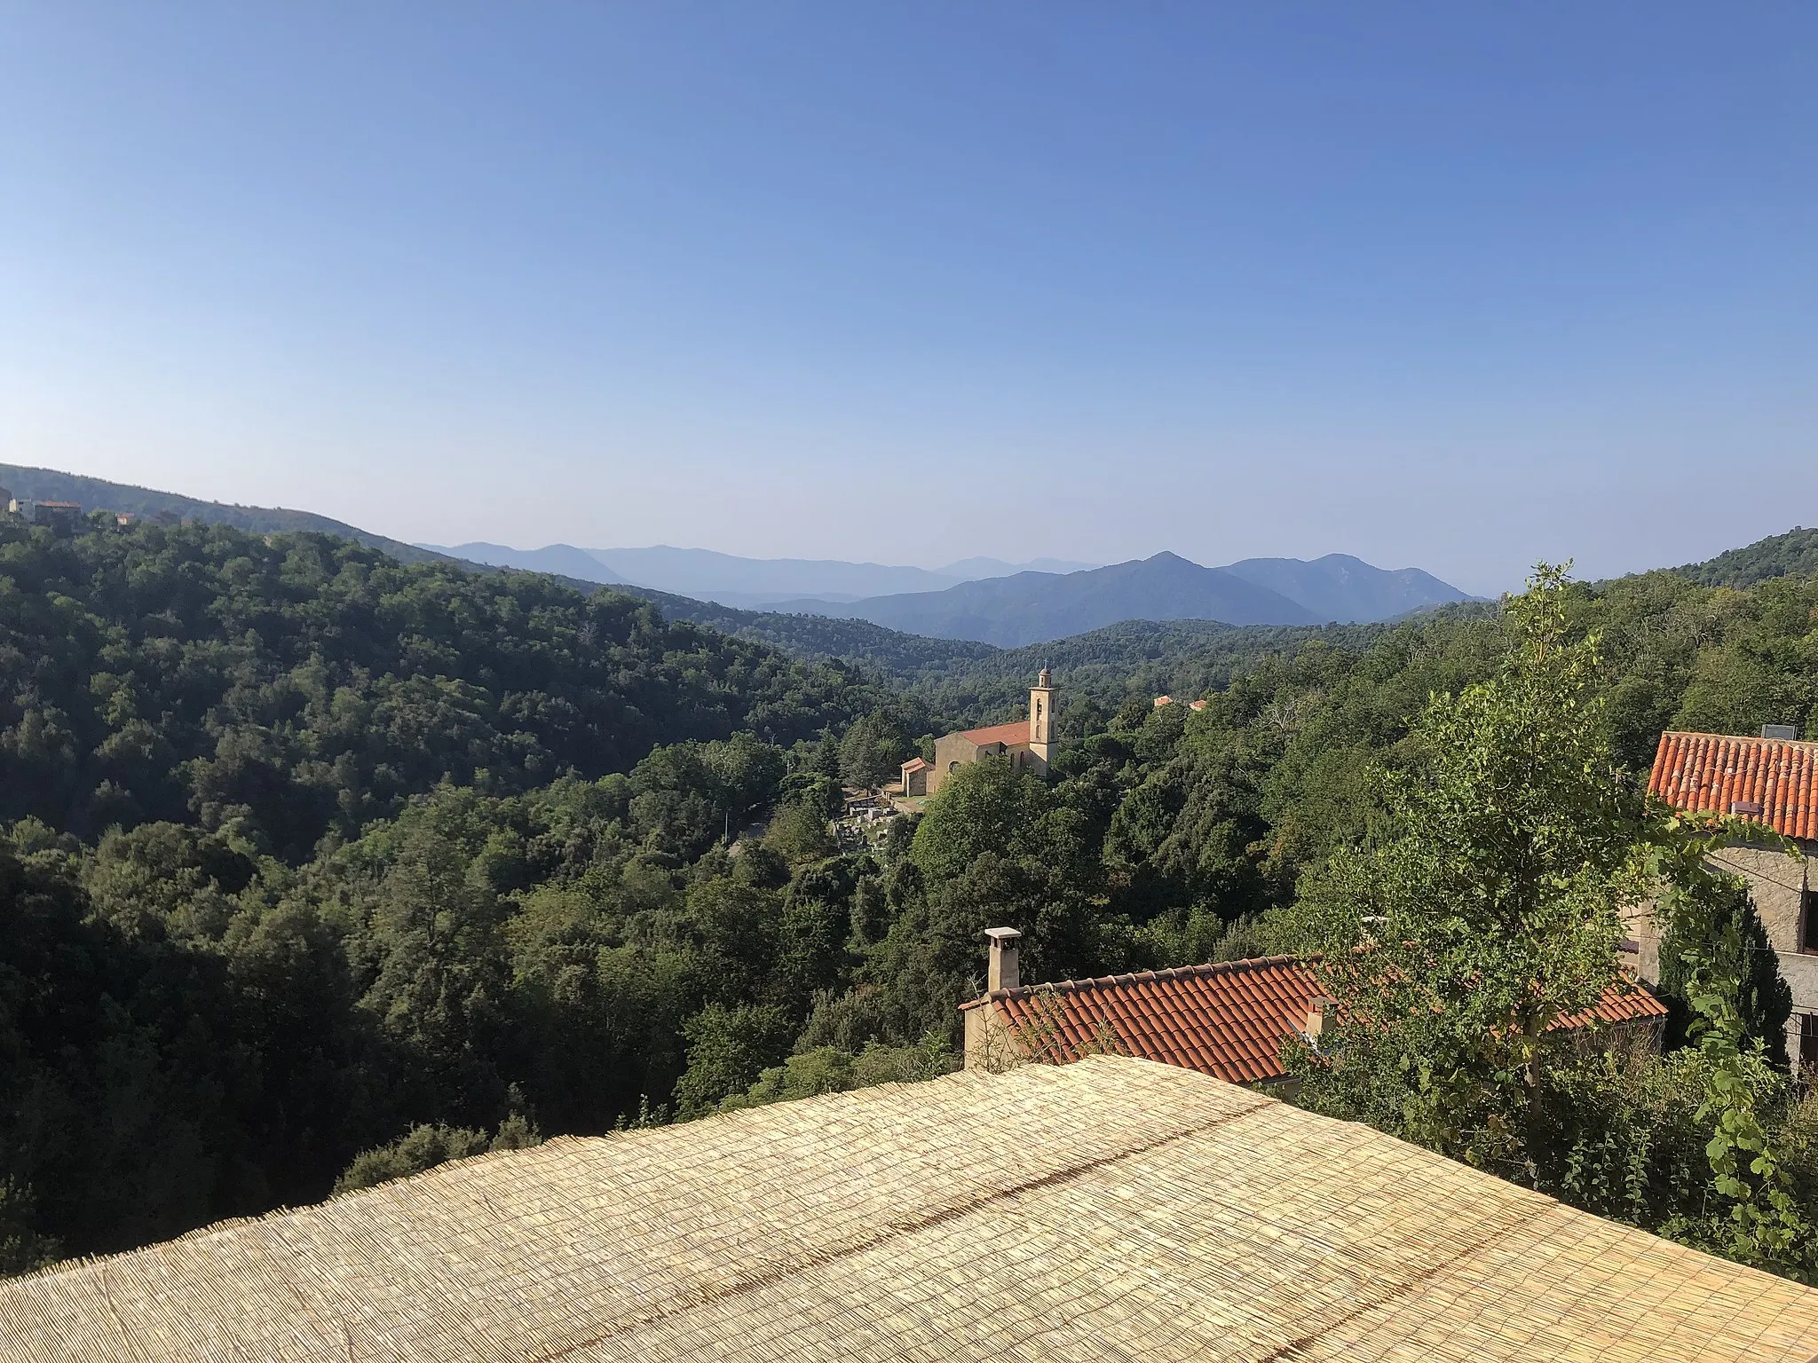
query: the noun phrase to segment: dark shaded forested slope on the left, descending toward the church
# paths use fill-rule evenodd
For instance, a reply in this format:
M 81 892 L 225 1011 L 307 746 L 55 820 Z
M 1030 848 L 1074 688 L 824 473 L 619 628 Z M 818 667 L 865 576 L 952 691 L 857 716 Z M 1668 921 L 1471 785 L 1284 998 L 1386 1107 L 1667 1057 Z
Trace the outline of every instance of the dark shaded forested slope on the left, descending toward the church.
M 876 703 L 624 596 L 222 525 L 4 525 L 0 631 L 0 814 L 193 820 L 287 860 L 440 780 L 522 791 Z

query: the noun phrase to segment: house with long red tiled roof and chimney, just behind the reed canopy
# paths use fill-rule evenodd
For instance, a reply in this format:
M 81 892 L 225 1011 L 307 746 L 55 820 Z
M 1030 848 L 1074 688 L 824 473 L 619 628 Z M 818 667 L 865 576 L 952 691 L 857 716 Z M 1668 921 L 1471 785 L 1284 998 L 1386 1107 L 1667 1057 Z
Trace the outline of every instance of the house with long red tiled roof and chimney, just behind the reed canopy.
M 1296 956 L 1024 985 L 1016 967 L 1020 936 L 1007 927 L 985 930 L 985 992 L 960 1005 L 969 1069 L 1065 1065 L 1109 1050 L 1231 1083 L 1274 1085 L 1289 1079 L 1282 1043 L 1291 1036 L 1313 1041 L 1322 1032 L 1329 1000 Z M 1665 1020 L 1658 998 L 1618 980 L 1594 1009 L 1562 1018 L 1554 1029 L 1640 1032 L 1658 1045 Z

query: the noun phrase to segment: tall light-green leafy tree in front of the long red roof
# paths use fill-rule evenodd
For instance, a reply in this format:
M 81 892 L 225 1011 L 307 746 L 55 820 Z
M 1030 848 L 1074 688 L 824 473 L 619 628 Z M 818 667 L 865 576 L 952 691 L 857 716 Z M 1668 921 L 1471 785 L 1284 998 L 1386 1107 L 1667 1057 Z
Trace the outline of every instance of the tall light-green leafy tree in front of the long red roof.
M 1378 769 L 1385 836 L 1309 876 L 1284 938 L 1318 958 L 1333 1036 L 1309 1099 L 1538 1185 L 1562 1018 L 1614 980 L 1647 883 L 1640 803 L 1605 736 L 1598 642 L 1562 569 L 1505 605 L 1500 672 L 1434 696 L 1407 771 Z

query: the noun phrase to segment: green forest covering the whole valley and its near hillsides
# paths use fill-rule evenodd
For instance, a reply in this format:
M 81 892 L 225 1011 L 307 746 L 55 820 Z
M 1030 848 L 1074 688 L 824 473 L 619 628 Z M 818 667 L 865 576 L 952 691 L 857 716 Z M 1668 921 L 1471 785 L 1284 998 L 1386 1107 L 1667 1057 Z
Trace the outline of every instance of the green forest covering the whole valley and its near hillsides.
M 789 651 L 315 532 L 4 523 L 0 1268 L 493 1145 L 938 1074 L 993 923 L 1024 930 L 1027 980 L 1060 980 L 1333 950 L 1360 894 L 1418 920 L 1456 885 L 1394 849 L 1463 838 L 1422 792 L 1482 780 L 1494 734 L 1551 732 L 1547 705 L 1582 718 L 1573 771 L 1620 787 L 1554 783 L 1616 885 L 1663 729 L 1818 731 L 1818 576 L 1751 562 L 1373 627 L 1129 623 L 920 658 L 878 631 L 878 656 L 842 660 L 831 622 Z M 1065 698 L 1045 780 L 967 767 L 842 849 L 842 783 L 1014 718 L 1042 663 Z M 1460 772 L 1445 751 L 1487 756 Z M 1705 1070 L 1558 1065 L 1509 1107 L 1507 1056 L 1409 1090 L 1358 1041 L 1307 1101 L 1747 1258 L 1705 1216 L 1711 1132 L 1760 1129 L 1780 1163 L 1749 1172 L 1743 1145 L 1727 1178 L 1811 1214 L 1818 1123 L 1783 1056 L 1749 1069 L 1776 1003 L 1773 980 L 1722 974 L 1753 960 L 1723 956 L 1747 905 L 1680 881 L 1703 954 L 1676 1038 Z M 1758 1101 L 1711 1109 L 1707 1070 Z M 1511 1114 L 1522 1141 L 1476 1139 Z M 1785 1225 L 1747 1243 L 1791 1272 Z

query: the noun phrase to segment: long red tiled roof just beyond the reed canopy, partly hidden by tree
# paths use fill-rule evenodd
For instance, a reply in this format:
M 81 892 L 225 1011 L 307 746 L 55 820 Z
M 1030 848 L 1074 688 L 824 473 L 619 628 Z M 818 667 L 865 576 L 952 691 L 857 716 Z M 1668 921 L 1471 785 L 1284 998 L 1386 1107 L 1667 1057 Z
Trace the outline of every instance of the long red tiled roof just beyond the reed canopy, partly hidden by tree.
M 1044 1001 L 1053 990 L 1053 1001 Z M 1078 1060 L 1098 1047 L 1104 1029 L 1116 1050 L 1138 1060 L 1213 1074 L 1231 1083 L 1285 1078 L 1282 1041 L 1307 1025 L 1320 985 L 1296 956 L 1187 965 L 1058 985 L 1002 989 L 960 1009 L 994 1005 L 1013 1030 L 1054 1032 L 1051 1056 Z M 1627 980 L 1618 980 L 1585 1014 L 1554 1027 L 1665 1018 L 1665 1005 Z M 1549 1029 L 1551 1030 L 1551 1029 Z

